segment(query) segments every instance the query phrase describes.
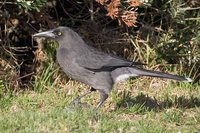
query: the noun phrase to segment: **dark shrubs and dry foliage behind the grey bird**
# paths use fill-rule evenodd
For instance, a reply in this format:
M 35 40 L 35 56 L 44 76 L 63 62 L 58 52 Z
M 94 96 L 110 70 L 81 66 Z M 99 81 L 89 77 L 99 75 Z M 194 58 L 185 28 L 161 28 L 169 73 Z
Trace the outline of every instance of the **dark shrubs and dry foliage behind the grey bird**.
M 55 42 L 44 46 L 31 35 L 59 25 L 105 52 L 200 84 L 199 0 L 2 0 L 0 96 L 56 79 L 46 74 L 57 71 Z

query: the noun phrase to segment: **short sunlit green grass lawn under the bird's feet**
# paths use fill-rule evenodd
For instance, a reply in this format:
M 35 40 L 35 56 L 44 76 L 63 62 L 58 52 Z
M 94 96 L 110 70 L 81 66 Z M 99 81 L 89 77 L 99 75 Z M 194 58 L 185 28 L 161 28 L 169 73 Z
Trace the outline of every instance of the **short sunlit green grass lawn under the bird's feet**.
M 167 82 L 167 86 L 155 89 L 142 87 L 142 80 L 118 84 L 99 111 L 93 110 L 98 93 L 83 100 L 90 108 L 69 106 L 87 89 L 74 81 L 64 87 L 55 85 L 42 92 L 25 91 L 1 98 L 0 131 L 184 133 L 200 129 L 199 86 Z

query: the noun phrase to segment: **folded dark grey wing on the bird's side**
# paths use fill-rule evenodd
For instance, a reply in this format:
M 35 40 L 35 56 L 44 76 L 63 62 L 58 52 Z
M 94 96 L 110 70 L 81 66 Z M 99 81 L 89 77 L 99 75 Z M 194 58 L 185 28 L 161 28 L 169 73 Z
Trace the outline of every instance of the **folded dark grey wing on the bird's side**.
M 112 71 L 119 67 L 127 67 L 133 65 L 144 65 L 139 62 L 132 62 L 114 55 L 105 54 L 103 52 L 97 52 L 93 55 L 83 55 L 76 57 L 76 63 L 79 66 L 88 70 L 98 71 Z

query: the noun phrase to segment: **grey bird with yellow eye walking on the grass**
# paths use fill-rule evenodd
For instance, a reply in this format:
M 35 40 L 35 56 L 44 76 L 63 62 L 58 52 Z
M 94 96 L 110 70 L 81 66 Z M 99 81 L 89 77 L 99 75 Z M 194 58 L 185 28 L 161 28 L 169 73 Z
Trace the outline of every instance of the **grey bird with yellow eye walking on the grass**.
M 59 26 L 33 34 L 32 37 L 55 40 L 58 43 L 56 58 L 64 73 L 91 87 L 84 94 L 75 98 L 70 103 L 72 105 L 80 105 L 83 97 L 97 90 L 100 100 L 96 109 L 99 109 L 108 98 L 114 84 L 131 77 L 149 76 L 192 82 L 189 77 L 140 68 L 138 66 L 143 63 L 100 51 L 86 44 L 78 33 L 69 27 Z

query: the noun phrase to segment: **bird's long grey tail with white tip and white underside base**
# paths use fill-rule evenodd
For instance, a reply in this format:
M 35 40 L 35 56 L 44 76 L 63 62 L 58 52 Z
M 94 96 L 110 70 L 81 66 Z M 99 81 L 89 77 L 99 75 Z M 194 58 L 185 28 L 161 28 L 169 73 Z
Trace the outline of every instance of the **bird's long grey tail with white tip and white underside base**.
M 177 81 L 192 82 L 192 79 L 187 78 L 187 77 L 167 74 L 167 73 L 158 72 L 158 71 L 146 70 L 146 69 L 136 68 L 136 67 L 122 67 L 122 68 L 117 68 L 114 71 L 112 71 L 112 77 L 115 81 L 123 81 L 130 77 L 137 77 L 137 76 L 150 76 L 150 77 L 173 79 Z

